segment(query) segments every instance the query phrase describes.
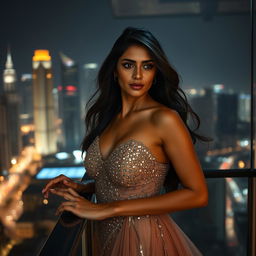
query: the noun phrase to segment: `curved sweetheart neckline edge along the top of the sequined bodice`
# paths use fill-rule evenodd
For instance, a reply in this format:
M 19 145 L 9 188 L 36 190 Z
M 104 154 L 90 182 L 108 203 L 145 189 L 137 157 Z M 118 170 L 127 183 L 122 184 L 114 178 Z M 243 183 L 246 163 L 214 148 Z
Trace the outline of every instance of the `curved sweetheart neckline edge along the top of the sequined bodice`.
M 151 150 L 142 142 L 142 141 L 139 141 L 137 139 L 133 139 L 133 138 L 130 138 L 128 140 L 125 140 L 123 142 L 120 142 L 119 144 L 117 144 L 113 149 L 112 151 L 108 154 L 108 156 L 104 159 L 103 158 L 103 155 L 101 153 L 101 149 L 100 149 L 100 136 L 97 135 L 96 136 L 96 141 L 97 141 L 97 149 L 98 149 L 98 152 L 99 152 L 99 156 L 100 156 L 100 159 L 102 162 L 107 162 L 109 160 L 109 158 L 114 154 L 114 152 L 119 149 L 120 147 L 130 143 L 130 142 L 135 142 L 139 145 L 141 145 L 144 149 L 146 149 L 148 151 L 148 153 L 150 154 L 150 156 L 154 159 L 153 161 L 156 162 L 157 164 L 160 164 L 160 165 L 169 165 L 169 163 L 162 163 L 162 162 L 159 162 L 157 161 L 156 157 L 153 155 L 153 153 L 151 152 Z

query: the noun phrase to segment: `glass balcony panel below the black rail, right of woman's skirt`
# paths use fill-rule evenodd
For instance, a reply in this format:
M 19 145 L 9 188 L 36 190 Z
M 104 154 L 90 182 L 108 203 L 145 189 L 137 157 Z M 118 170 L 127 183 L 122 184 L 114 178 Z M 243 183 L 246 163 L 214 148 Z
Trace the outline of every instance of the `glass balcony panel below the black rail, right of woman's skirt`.
M 247 178 L 208 179 L 209 203 L 172 216 L 205 256 L 247 255 Z

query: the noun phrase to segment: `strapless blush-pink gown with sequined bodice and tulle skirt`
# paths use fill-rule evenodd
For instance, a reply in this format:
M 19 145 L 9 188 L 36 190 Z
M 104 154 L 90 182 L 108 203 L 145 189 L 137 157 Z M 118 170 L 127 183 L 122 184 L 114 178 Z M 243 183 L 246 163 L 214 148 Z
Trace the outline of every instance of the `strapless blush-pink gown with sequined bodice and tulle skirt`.
M 169 164 L 160 163 L 142 142 L 130 139 L 103 159 L 99 137 L 89 146 L 85 168 L 95 180 L 97 203 L 160 194 Z M 120 216 L 91 221 L 93 256 L 202 255 L 168 214 Z

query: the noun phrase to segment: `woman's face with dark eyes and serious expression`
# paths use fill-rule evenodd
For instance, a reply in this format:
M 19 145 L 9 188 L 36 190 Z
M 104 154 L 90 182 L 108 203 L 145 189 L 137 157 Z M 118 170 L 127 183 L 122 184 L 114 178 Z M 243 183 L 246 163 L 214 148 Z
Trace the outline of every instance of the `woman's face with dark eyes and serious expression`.
M 148 92 L 156 74 L 155 63 L 146 48 L 130 46 L 117 62 L 117 76 L 122 93 L 141 96 Z

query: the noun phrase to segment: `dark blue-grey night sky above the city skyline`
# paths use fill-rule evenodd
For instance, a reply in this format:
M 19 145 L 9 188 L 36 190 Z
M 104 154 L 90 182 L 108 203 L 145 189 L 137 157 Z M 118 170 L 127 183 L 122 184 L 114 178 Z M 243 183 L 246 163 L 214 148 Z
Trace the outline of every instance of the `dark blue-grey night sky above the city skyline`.
M 101 63 L 122 30 L 135 26 L 159 39 L 181 74 L 183 88 L 221 83 L 235 91 L 249 91 L 249 14 L 214 16 L 208 21 L 201 16 L 117 18 L 111 1 L 17 0 L 2 3 L 0 16 L 1 73 L 8 44 L 18 76 L 31 73 L 35 49 L 48 49 L 57 86 L 60 51 L 80 67 Z

